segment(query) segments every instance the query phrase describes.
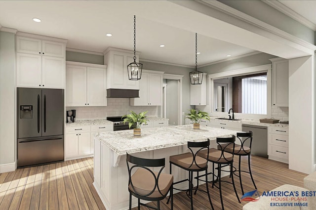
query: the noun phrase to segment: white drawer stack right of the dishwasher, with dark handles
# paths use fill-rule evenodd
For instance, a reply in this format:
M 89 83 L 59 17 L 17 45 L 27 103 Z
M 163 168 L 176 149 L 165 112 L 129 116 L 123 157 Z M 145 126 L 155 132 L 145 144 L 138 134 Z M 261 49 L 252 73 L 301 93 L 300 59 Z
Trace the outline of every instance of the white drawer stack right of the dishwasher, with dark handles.
M 269 127 L 269 159 L 288 163 L 288 127 Z

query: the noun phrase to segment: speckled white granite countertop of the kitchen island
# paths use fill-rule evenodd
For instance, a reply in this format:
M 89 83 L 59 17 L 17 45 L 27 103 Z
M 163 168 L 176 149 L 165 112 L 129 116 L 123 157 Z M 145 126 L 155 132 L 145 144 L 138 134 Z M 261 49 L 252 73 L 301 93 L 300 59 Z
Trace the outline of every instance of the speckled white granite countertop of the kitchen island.
M 100 132 L 95 138 L 104 142 L 117 155 L 156 150 L 187 144 L 188 141 L 202 141 L 209 138 L 229 137 L 236 135 L 236 130 L 200 126 L 193 129 L 192 125 L 168 126 L 142 129 L 140 137 L 133 136 L 133 130 Z

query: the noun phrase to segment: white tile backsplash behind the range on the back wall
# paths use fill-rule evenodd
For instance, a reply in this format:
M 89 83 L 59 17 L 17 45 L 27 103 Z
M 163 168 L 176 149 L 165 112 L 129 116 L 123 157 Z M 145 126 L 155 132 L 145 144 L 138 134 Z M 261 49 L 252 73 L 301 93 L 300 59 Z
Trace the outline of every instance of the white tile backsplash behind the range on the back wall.
M 122 116 L 130 110 L 136 113 L 148 111 L 147 116 L 158 116 L 158 106 L 130 106 L 129 98 L 108 98 L 108 106 L 66 107 L 66 111 L 72 109 L 76 110 L 76 120 Z

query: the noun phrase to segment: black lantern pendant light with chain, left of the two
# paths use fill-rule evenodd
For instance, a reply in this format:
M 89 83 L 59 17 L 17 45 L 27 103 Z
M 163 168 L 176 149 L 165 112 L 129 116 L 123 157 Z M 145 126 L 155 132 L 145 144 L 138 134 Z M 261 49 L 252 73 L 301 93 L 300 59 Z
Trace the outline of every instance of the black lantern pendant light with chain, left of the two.
M 134 62 L 127 65 L 128 79 L 140 80 L 142 77 L 143 64 L 136 62 L 136 16 L 134 15 Z

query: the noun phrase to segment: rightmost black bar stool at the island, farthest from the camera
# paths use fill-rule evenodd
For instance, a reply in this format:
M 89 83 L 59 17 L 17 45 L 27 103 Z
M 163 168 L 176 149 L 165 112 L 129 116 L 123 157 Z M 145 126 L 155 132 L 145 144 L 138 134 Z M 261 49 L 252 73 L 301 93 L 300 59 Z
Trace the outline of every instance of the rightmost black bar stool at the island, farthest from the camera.
M 229 153 L 234 153 L 234 155 L 237 155 L 239 157 L 239 164 L 238 164 L 238 175 L 235 173 L 237 172 L 237 169 L 234 167 L 234 174 L 239 177 L 240 181 L 240 188 L 242 195 L 244 194 L 243 192 L 243 187 L 242 187 L 242 182 L 241 182 L 241 173 L 240 172 L 246 172 L 250 174 L 250 178 L 252 180 L 253 186 L 255 189 L 257 189 L 257 186 L 255 184 L 255 181 L 252 177 L 251 173 L 251 168 L 250 168 L 250 153 L 251 153 L 251 144 L 252 144 L 252 131 L 249 131 L 248 133 L 237 133 L 237 142 L 238 144 L 235 144 L 235 150 L 232 150 L 231 146 L 228 146 L 225 148 L 226 152 Z M 248 146 L 246 146 L 248 145 Z M 248 171 L 241 170 L 240 169 L 240 163 L 241 163 L 241 156 L 248 156 Z

